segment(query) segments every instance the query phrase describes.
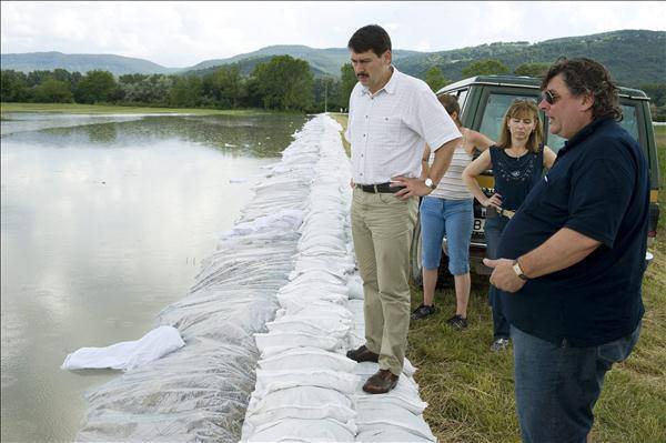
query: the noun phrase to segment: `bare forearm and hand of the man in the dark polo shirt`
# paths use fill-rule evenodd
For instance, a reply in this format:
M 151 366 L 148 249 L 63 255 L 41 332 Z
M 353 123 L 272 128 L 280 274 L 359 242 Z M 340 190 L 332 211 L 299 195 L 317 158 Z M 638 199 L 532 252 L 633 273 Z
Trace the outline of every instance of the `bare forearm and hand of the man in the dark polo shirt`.
M 541 246 L 518 258 L 518 264 L 523 273 L 529 279 L 561 271 L 578 263 L 602 242 L 583 235 L 568 228 L 562 228 L 555 232 Z M 484 259 L 484 264 L 494 268 L 491 274 L 491 283 L 506 292 L 516 292 L 525 282 L 518 278 L 513 270 L 513 260 Z

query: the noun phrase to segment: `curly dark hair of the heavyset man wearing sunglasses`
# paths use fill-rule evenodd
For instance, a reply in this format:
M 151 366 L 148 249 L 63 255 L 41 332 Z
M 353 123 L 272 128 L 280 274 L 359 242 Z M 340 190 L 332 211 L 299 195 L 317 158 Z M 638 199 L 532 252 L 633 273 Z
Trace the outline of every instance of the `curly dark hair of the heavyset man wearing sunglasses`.
M 603 64 L 585 58 L 571 60 L 559 58 L 548 69 L 548 73 L 542 81 L 542 89 L 546 89 L 551 79 L 557 74 L 562 74 L 564 82 L 574 97 L 585 93 L 593 95 L 593 120 L 603 118 L 622 120 L 622 109 L 618 105 L 617 98 L 619 88 L 613 83 L 610 73 Z

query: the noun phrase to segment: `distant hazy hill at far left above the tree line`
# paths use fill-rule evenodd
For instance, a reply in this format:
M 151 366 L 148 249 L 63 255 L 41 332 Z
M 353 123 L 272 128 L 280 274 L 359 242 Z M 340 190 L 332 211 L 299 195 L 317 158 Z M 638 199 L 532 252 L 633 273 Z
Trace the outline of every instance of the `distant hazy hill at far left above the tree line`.
M 85 73 L 95 69 L 112 72 L 115 75 L 127 73 L 172 73 L 176 68 L 165 68 L 152 61 L 113 54 L 67 54 L 62 52 L 7 53 L 0 56 L 2 69 L 14 71 L 52 71 L 57 68 L 70 72 Z

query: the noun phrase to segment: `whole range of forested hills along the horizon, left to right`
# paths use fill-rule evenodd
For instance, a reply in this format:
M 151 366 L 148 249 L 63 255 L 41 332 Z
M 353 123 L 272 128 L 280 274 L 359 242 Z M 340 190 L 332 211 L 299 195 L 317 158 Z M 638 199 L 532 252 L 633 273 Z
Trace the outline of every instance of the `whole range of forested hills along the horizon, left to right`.
M 95 69 L 124 73 L 201 73 L 214 67 L 239 63 L 241 72 L 249 73 L 258 62 L 287 54 L 310 63 L 315 77 L 340 78 L 341 67 L 349 62 L 346 48 L 315 49 L 305 46 L 272 46 L 229 59 L 208 60 L 190 68 L 165 68 L 147 60 L 104 54 L 62 54 L 60 52 L 32 52 L 2 54 L 2 69 L 17 71 L 53 70 L 70 72 Z M 666 79 L 666 32 L 623 30 L 584 37 L 567 37 L 538 43 L 497 42 L 472 48 L 438 52 L 395 50 L 394 62 L 403 72 L 425 78 L 433 66 L 440 67 L 450 81 L 462 79 L 462 70 L 470 64 L 493 59 L 511 71 L 535 62 L 552 63 L 558 57 L 588 57 L 604 63 L 615 80 L 625 85 L 663 83 Z

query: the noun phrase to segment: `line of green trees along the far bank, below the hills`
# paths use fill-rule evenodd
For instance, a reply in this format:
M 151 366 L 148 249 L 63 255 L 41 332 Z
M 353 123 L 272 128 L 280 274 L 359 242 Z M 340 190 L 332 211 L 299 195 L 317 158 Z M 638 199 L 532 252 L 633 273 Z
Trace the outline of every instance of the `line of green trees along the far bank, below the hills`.
M 543 77 L 547 63 L 523 63 L 513 73 Z M 501 61 L 486 59 L 465 69 L 464 78 L 509 73 Z M 425 82 L 437 91 L 451 80 L 433 66 L 425 72 Z M 173 108 L 213 108 L 321 112 L 346 110 L 349 97 L 356 84 L 351 63 L 341 69 L 341 78 L 314 78 L 310 64 L 291 56 L 274 57 L 258 63 L 249 75 L 242 75 L 238 64 L 229 64 L 205 74 L 124 74 L 115 78 L 109 71 L 85 74 L 64 69 L 1 71 L 2 102 L 40 103 L 110 103 Z M 653 118 L 666 120 L 666 83 L 642 85 L 653 103 Z

